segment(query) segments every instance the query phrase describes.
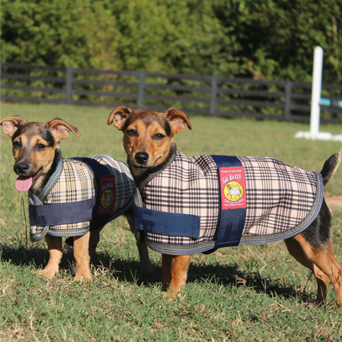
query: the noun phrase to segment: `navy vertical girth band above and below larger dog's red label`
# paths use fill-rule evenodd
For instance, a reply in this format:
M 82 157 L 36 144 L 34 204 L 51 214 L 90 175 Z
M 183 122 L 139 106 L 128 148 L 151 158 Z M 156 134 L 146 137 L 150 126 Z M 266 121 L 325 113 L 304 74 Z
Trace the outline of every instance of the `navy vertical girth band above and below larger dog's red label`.
M 211 156 L 218 168 L 242 166 L 240 160 L 235 156 Z M 214 250 L 221 247 L 238 246 L 242 236 L 246 219 L 246 208 L 223 209 L 221 208 L 220 189 L 220 220 L 216 228 L 216 243 Z M 212 252 L 212 251 L 210 251 Z

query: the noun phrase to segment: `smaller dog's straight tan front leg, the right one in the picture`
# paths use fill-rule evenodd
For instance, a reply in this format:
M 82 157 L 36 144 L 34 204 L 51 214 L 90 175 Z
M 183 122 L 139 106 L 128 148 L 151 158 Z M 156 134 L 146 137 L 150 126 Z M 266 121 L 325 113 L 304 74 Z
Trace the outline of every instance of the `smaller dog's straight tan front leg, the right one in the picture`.
M 89 268 L 89 237 L 90 232 L 82 236 L 74 236 L 74 258 L 76 261 L 75 281 L 91 281 L 92 279 Z

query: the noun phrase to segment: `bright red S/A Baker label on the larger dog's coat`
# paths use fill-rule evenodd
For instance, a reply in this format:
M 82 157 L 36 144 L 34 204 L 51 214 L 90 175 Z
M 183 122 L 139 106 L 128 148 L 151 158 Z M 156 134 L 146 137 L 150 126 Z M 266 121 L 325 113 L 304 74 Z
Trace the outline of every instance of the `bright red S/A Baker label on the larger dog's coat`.
M 220 168 L 222 209 L 246 208 L 245 169 L 243 166 Z

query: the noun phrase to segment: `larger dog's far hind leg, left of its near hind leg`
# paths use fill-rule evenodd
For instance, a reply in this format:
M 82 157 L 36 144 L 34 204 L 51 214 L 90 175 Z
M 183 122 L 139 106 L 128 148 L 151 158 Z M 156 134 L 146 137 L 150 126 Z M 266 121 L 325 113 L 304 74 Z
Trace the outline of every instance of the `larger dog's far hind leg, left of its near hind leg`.
M 312 261 L 310 261 L 301 247 L 300 243 L 295 238 L 285 240 L 285 244 L 289 253 L 303 266 L 309 268 L 317 281 L 317 304 L 323 304 L 327 297 L 329 277 L 323 273 Z

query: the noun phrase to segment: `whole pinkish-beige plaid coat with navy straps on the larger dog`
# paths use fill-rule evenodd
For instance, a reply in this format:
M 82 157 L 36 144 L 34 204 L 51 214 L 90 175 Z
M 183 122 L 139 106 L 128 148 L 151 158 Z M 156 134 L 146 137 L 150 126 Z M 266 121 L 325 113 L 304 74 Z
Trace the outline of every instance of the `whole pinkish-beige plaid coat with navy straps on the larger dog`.
M 323 201 L 320 173 L 271 157 L 187 157 L 176 151 L 135 195 L 135 228 L 157 252 L 182 255 L 302 232 Z

